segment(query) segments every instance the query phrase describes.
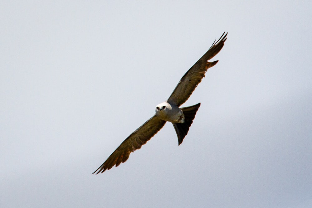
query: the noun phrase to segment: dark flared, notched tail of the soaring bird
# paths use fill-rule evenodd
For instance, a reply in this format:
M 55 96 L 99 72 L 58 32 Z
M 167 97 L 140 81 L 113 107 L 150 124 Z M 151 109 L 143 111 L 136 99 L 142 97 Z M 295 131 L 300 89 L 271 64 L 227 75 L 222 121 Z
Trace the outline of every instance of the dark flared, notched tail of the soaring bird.
M 172 123 L 178 136 L 179 145 L 183 142 L 184 137 L 188 134 L 188 129 L 193 123 L 193 119 L 195 118 L 199 106 L 200 103 L 190 107 L 181 108 L 185 116 L 184 123 Z

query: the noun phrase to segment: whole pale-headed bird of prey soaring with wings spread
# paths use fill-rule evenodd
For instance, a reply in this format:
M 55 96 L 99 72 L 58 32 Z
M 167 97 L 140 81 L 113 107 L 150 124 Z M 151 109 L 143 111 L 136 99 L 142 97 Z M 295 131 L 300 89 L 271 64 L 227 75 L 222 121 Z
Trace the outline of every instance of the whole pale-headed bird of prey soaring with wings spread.
M 96 174 L 103 173 L 114 166 L 119 166 L 122 162 L 126 162 L 130 153 L 140 149 L 143 144 L 163 128 L 167 121 L 173 124 L 178 136 L 178 144 L 180 145 L 183 142 L 188 129 L 193 123 L 200 103 L 185 108 L 179 108 L 179 106 L 188 100 L 202 78 L 205 77 L 206 71 L 217 64 L 217 60 L 213 62 L 209 62 L 208 60 L 212 59 L 221 51 L 224 42 L 227 40 L 227 34 L 224 34 L 225 32 L 217 42 L 214 41 L 212 43 L 209 50 L 185 73 L 168 100 L 156 106 L 156 114 L 130 134 L 95 171 L 97 172 Z

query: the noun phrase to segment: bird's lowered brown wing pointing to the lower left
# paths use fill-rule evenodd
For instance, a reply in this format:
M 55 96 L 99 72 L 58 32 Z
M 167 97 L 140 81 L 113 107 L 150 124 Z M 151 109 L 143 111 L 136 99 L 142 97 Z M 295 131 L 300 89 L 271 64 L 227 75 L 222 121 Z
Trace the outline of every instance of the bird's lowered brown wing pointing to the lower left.
M 154 115 L 119 145 L 110 157 L 108 157 L 107 160 L 95 171 L 98 171 L 96 174 L 109 170 L 114 165 L 117 167 L 120 163 L 126 162 L 130 153 L 141 148 L 143 144 L 149 141 L 161 128 L 163 128 L 165 123 L 166 121 L 161 120 Z

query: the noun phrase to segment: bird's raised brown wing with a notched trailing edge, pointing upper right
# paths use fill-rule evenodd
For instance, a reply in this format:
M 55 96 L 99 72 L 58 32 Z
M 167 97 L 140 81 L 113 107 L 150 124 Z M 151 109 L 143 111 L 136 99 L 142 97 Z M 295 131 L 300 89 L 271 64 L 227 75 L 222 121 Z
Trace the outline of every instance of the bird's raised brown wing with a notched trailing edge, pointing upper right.
M 206 71 L 217 64 L 218 61 L 209 62 L 208 60 L 221 51 L 224 42 L 227 40 L 227 34 L 224 34 L 225 32 L 217 42 L 212 43 L 209 50 L 185 73 L 168 98 L 168 103 L 180 106 L 188 100 L 194 89 L 202 81 L 202 78 L 205 77 Z

